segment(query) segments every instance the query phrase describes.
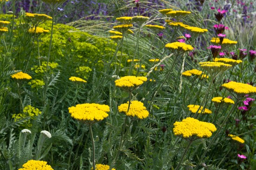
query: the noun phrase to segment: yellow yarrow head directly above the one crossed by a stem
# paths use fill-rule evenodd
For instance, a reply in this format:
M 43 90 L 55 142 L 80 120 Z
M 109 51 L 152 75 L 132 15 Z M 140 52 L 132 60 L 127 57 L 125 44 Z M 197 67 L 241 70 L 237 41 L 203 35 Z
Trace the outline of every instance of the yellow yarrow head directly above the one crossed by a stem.
M 120 87 L 125 91 L 132 92 L 147 81 L 147 79 L 148 78 L 146 77 L 125 76 L 115 80 L 115 86 Z

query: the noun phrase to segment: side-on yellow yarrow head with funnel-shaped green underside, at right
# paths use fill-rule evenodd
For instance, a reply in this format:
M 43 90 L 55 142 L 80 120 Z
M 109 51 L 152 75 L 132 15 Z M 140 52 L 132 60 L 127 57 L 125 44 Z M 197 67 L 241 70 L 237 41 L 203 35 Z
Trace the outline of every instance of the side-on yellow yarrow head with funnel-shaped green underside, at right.
M 212 77 L 216 77 L 218 74 L 232 67 L 232 65 L 221 62 L 201 62 L 199 64 L 203 69 L 209 72 Z

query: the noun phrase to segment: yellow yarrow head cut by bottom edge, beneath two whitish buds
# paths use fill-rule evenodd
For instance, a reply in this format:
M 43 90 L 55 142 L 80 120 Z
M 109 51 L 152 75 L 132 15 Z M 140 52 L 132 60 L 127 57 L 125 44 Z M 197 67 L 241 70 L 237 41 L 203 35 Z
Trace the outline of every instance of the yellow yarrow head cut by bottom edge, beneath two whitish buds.
M 22 165 L 19 170 L 54 170 L 50 165 L 47 165 L 45 161 L 29 160 Z

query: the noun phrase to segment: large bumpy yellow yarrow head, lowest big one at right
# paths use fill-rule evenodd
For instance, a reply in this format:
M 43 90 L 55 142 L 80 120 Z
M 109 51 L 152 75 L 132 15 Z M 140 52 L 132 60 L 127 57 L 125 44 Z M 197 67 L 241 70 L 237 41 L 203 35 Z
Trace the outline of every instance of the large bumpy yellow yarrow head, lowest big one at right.
M 182 135 L 182 137 L 211 137 L 212 132 L 216 131 L 214 124 L 208 122 L 201 122 L 194 118 L 185 118 L 182 122 L 175 122 L 173 132 L 175 135 Z

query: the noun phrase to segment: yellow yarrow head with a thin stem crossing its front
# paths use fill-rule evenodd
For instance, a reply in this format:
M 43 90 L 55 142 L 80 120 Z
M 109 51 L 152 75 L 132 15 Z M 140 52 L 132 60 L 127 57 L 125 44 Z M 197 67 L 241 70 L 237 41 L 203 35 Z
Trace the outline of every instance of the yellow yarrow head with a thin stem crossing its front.
M 149 112 L 147 111 L 143 103 L 141 103 L 140 101 L 137 101 L 137 100 L 131 101 L 129 111 L 128 111 L 128 104 L 129 102 L 118 106 L 118 111 L 125 113 L 127 116 L 132 116 L 132 117 L 136 116 L 139 119 L 148 117 Z

